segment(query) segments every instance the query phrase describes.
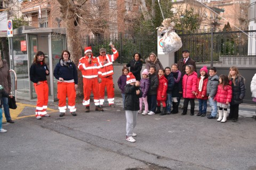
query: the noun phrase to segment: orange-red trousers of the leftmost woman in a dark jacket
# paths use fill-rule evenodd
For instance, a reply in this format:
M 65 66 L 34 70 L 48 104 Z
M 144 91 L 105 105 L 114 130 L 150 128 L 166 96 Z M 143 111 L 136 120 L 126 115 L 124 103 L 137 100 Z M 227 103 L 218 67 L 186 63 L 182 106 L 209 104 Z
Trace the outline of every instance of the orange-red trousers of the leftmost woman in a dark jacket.
M 34 83 L 34 87 L 37 94 L 37 104 L 36 104 L 36 116 L 45 115 L 47 105 L 48 105 L 48 94 L 49 88 L 47 81 L 39 81 L 41 84 Z

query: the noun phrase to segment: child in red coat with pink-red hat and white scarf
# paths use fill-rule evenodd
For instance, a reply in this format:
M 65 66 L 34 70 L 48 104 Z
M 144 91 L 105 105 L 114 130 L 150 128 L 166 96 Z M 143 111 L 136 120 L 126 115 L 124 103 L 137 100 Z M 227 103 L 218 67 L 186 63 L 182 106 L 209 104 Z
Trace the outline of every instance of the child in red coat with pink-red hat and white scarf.
M 196 84 L 196 98 L 199 103 L 199 112 L 197 116 L 205 116 L 207 109 L 207 82 L 208 82 L 207 66 L 203 66 L 200 70 L 200 77 L 197 79 Z

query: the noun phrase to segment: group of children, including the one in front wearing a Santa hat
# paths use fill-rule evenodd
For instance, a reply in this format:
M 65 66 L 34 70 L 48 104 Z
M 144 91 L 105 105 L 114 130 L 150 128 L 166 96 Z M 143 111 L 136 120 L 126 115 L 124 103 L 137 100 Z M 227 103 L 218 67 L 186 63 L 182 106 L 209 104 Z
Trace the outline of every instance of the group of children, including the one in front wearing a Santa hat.
M 233 122 L 238 120 L 239 104 L 243 102 L 245 96 L 245 80 L 239 74 L 236 66 L 230 67 L 228 75 L 219 77 L 215 67 L 210 68 L 209 75 L 207 67 L 202 67 L 199 77 L 197 77 L 193 65 L 187 65 L 185 71 L 186 74 L 182 77 L 177 64 L 173 64 L 172 68 L 159 69 L 157 73 L 156 67 L 151 66 L 149 73 L 147 69 L 143 70 L 140 81 L 136 81 L 134 78 L 130 82 L 127 80 L 130 80 L 133 75 L 127 67 L 123 68 L 123 75 L 118 80 L 118 86 L 122 90 L 123 109 L 126 113 L 127 141 L 135 142 L 133 137 L 137 134 L 132 131 L 137 122 L 137 113 L 142 115 L 178 113 L 181 94 L 184 98 L 181 115 L 187 114 L 189 102 L 190 115 L 194 115 L 195 98 L 197 98 L 199 103 L 197 116 L 206 116 L 208 99 L 212 111 L 207 118 L 216 118 L 217 106 L 219 106 L 218 122 L 225 123 L 227 119 Z M 142 103 L 145 104 L 144 111 L 142 111 Z M 161 103 L 163 105 L 162 112 Z M 128 107 L 129 104 L 134 105 L 132 110 Z M 230 105 L 229 115 L 228 105 Z M 171 106 L 173 106 L 172 111 Z M 129 113 L 130 111 L 133 113 Z

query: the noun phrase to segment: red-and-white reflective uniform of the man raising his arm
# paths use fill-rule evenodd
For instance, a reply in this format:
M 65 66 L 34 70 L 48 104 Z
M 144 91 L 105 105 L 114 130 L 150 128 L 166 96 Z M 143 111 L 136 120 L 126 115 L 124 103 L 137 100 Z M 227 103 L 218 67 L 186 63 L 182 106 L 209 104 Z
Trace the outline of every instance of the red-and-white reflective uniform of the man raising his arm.
M 104 97 L 105 97 L 105 87 L 107 87 L 107 94 L 108 94 L 108 104 L 114 104 L 114 83 L 113 83 L 113 77 L 114 74 L 113 71 L 113 62 L 118 58 L 118 52 L 115 48 L 112 48 L 113 54 L 109 55 L 106 54 L 106 56 L 99 56 L 97 57 L 98 62 L 100 64 L 99 68 L 99 77 L 101 78 L 101 83 L 99 83 L 100 88 L 100 105 L 103 105 L 104 103 Z M 107 61 L 107 64 L 104 64 L 103 62 Z

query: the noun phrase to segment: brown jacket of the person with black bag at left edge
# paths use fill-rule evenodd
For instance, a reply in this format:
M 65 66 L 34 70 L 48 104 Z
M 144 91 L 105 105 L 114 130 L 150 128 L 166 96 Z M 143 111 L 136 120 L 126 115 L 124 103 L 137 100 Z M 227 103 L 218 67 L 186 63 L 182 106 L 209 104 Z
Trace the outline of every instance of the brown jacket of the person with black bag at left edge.
M 0 67 L 0 84 L 4 87 L 5 91 L 11 92 L 12 89 L 12 81 L 11 74 L 9 72 L 9 66 L 6 60 L 3 61 L 3 66 Z

